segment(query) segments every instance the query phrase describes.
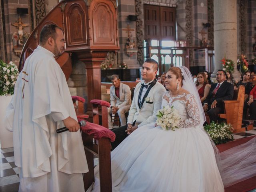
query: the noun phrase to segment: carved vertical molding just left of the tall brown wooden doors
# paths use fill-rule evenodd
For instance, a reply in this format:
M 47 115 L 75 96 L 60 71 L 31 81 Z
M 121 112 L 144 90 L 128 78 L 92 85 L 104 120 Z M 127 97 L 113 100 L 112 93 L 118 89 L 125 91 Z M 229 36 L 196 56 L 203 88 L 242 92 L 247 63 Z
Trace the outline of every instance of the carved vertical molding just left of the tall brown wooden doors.
M 144 63 L 144 53 L 143 53 L 143 40 L 144 40 L 144 34 L 143 34 L 143 22 L 142 22 L 142 0 L 135 0 L 135 14 L 137 16 L 136 20 L 136 38 L 137 38 L 137 60 L 138 64 L 142 66 Z

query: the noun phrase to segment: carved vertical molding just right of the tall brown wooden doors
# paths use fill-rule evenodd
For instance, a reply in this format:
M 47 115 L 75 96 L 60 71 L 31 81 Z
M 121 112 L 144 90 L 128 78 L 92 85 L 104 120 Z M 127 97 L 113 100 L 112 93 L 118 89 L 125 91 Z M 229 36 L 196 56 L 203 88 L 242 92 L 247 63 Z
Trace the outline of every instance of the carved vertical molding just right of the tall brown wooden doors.
M 192 0 L 186 0 L 186 42 L 187 46 L 192 45 Z M 189 51 L 190 63 L 192 63 L 192 51 Z

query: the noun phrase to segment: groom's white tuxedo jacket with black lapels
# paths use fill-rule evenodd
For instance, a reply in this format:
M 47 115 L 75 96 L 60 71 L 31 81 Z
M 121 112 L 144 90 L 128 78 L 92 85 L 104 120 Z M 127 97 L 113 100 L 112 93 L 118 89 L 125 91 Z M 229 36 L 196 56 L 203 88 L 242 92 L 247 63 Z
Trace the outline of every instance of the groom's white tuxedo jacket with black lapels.
M 139 82 L 135 87 L 132 106 L 130 107 L 127 120 L 127 123 L 131 124 L 136 120 L 135 125 L 138 127 L 156 122 L 156 114 L 161 108 L 162 96 L 166 92 L 164 86 L 157 81 L 148 94 L 144 95 L 144 102 L 142 102 L 142 106 L 140 107 L 138 104 L 140 98 L 138 97 L 143 83 L 145 82 Z

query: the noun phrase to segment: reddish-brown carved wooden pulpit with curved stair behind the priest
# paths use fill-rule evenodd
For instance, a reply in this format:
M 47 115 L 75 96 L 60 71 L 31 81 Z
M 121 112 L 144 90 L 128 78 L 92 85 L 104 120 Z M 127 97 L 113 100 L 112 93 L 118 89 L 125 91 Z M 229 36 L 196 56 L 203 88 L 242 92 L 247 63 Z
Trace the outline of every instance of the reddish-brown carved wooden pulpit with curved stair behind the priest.
M 21 71 L 26 58 L 39 44 L 45 24 L 56 24 L 64 31 L 66 50 L 57 62 L 69 78 L 72 72 L 70 54 L 76 54 L 87 69 L 88 100 L 101 99 L 100 64 L 109 51 L 119 50 L 116 0 L 63 0 L 36 26 L 22 50 Z M 88 109 L 91 109 L 88 103 Z

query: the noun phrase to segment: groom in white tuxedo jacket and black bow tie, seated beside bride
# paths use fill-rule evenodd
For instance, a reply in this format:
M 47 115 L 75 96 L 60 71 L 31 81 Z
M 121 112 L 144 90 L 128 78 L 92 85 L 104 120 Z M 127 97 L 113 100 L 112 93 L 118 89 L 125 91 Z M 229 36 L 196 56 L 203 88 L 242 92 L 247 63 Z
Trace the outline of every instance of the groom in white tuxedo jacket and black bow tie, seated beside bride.
M 144 81 L 135 87 L 127 125 L 113 130 L 116 134 L 116 140 L 111 143 L 113 149 L 140 126 L 156 122 L 156 113 L 161 108 L 162 96 L 166 92 L 155 78 L 157 71 L 158 63 L 153 59 L 146 59 L 141 70 Z

